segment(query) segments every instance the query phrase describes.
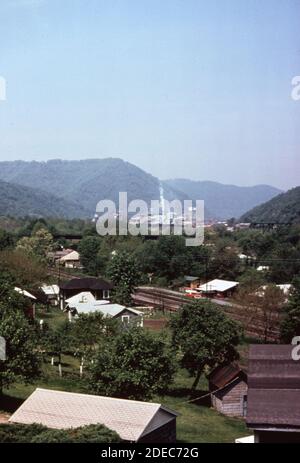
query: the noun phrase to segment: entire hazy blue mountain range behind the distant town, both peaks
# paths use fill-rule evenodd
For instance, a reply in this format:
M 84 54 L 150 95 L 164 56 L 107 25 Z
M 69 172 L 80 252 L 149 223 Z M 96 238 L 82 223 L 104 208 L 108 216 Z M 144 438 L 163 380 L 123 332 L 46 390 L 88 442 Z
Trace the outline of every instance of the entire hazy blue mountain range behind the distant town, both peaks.
M 254 206 L 280 193 L 268 185 L 238 187 L 213 181 L 173 179 L 161 181 L 121 158 L 0 162 L 0 180 L 36 188 L 78 204 L 81 213 L 92 217 L 101 199 L 118 203 L 119 192 L 128 201 L 143 199 L 148 204 L 160 198 L 163 187 L 168 200 L 204 199 L 206 218 L 239 217 Z M 70 206 L 71 207 L 71 206 Z

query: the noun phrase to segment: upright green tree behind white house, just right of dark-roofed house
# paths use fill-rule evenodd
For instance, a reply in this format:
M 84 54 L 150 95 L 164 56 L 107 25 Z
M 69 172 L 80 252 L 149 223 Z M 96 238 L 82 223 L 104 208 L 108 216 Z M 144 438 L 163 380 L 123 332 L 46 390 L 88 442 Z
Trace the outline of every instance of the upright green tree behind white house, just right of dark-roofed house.
M 132 294 L 140 281 L 135 258 L 125 251 L 116 253 L 109 263 L 107 274 L 115 285 L 113 300 L 119 304 L 130 305 Z

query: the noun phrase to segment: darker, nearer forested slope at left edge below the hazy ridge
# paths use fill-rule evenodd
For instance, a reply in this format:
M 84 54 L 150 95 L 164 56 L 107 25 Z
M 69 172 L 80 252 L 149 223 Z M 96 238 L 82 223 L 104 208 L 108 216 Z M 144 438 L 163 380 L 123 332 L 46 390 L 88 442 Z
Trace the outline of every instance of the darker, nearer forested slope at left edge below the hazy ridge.
M 88 212 L 71 201 L 35 188 L 0 180 L 0 216 L 88 217 Z

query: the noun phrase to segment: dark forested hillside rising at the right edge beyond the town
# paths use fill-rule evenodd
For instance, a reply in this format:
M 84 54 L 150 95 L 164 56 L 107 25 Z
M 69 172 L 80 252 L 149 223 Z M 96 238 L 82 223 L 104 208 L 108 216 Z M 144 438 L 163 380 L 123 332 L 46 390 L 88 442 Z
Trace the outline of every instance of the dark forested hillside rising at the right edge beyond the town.
M 300 186 L 251 209 L 241 221 L 300 223 Z

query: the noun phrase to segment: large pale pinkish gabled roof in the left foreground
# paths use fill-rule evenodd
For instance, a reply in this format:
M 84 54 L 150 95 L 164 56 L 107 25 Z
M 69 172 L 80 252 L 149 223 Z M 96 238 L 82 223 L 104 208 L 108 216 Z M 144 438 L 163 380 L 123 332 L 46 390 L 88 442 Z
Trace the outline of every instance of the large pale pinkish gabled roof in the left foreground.
M 123 440 L 136 442 L 176 416 L 176 412 L 158 403 L 38 388 L 9 421 L 39 423 L 54 429 L 103 424 Z

